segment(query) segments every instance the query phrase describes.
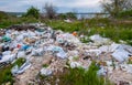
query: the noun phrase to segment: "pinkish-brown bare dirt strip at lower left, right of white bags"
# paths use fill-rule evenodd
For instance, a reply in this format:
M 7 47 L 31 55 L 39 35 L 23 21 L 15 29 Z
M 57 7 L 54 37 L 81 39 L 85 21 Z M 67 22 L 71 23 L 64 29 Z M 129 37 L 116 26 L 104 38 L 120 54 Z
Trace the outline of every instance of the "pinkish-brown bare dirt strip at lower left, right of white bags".
M 28 68 L 23 74 L 15 76 L 14 85 L 29 85 L 35 82 L 35 77 L 43 67 L 44 64 L 48 64 L 52 60 L 51 55 L 44 56 L 31 56 L 30 61 L 32 66 Z

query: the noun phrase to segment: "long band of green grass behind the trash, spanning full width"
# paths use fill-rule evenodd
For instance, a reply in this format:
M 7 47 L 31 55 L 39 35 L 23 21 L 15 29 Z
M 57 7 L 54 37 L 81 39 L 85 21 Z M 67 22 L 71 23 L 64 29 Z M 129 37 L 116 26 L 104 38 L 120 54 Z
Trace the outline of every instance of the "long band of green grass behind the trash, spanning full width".
M 36 20 L 34 18 L 10 18 L 2 19 L 0 21 L 0 28 L 7 28 L 12 24 L 21 23 L 32 23 L 42 21 L 47 25 L 52 26 L 54 30 L 62 30 L 64 32 L 73 33 L 77 31 L 78 34 L 85 34 L 87 36 L 92 34 L 100 34 L 106 38 L 110 38 L 114 42 L 120 40 L 125 41 L 128 44 L 132 45 L 132 22 L 129 20 L 109 20 L 102 19 L 90 19 L 90 20 L 75 20 L 72 23 L 65 22 L 63 20 Z M 89 40 L 84 40 L 87 43 Z

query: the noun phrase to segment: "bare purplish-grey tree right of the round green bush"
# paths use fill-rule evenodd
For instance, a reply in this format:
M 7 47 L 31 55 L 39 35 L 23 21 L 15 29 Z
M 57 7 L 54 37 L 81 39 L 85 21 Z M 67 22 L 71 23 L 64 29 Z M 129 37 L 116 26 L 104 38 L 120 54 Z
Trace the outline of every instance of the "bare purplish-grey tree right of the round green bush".
M 46 2 L 43 8 L 43 12 L 45 17 L 47 17 L 48 19 L 54 19 L 56 17 L 56 11 L 57 11 L 56 7 L 48 2 Z

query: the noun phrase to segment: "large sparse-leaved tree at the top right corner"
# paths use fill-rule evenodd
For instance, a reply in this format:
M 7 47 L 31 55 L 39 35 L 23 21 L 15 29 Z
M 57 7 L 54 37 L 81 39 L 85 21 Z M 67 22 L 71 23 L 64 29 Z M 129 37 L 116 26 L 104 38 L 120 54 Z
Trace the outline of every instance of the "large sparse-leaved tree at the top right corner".
M 132 0 L 102 0 L 101 6 L 105 12 L 117 17 L 120 11 L 132 9 Z

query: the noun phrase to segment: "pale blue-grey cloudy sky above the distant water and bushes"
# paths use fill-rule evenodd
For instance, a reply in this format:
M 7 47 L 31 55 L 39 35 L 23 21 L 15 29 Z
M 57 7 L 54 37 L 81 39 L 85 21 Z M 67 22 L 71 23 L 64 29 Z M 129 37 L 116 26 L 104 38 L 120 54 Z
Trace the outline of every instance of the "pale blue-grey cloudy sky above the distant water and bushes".
M 31 6 L 42 11 L 45 2 L 57 7 L 57 12 L 99 12 L 100 0 L 0 0 L 0 11 L 25 12 Z

